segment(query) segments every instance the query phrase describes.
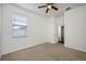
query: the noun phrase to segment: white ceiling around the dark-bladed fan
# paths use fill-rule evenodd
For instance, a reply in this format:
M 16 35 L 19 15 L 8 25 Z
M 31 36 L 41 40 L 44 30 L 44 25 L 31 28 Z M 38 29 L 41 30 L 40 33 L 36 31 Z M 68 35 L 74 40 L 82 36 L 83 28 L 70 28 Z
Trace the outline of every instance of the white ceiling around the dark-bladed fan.
M 24 8 L 30 12 L 34 12 L 34 13 L 39 14 L 45 17 L 50 17 L 50 16 L 59 17 L 64 14 L 66 8 L 71 8 L 71 10 L 72 10 L 72 9 L 75 9 L 85 3 L 54 3 L 53 5 L 59 8 L 59 10 L 54 11 L 54 10 L 50 9 L 49 13 L 47 13 L 47 14 L 46 14 L 46 8 L 42 8 L 42 9 L 37 8 L 37 7 L 44 5 L 44 4 L 46 4 L 46 3 L 17 3 L 15 5 Z

